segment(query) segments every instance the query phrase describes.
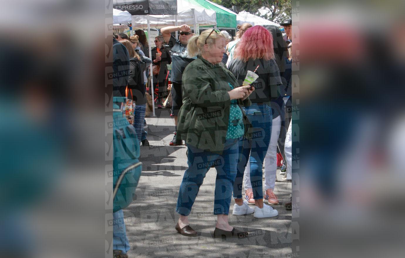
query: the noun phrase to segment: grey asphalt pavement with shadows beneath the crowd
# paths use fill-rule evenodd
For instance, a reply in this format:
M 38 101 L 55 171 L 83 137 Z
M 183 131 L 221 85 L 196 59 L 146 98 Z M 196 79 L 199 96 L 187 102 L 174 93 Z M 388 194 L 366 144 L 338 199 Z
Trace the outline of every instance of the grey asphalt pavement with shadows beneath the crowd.
M 143 171 L 135 201 L 124 209 L 126 230 L 131 245 L 129 257 L 136 258 L 256 258 L 291 256 L 291 211 L 284 203 L 290 200 L 291 182 L 281 180 L 277 170 L 275 194 L 281 205 L 273 206 L 279 215 L 254 218 L 253 214 L 229 216 L 231 226 L 249 232 L 247 238 L 213 237 L 215 168 L 211 168 L 198 192 L 190 226 L 198 237 L 177 233 L 179 215 L 175 212 L 179 186 L 187 168 L 186 147 L 169 146 L 175 130 L 169 109 L 155 109 L 156 117 L 146 118 L 150 146 L 141 146 Z M 232 213 L 234 200 L 230 205 Z M 253 207 L 253 206 L 252 206 Z

